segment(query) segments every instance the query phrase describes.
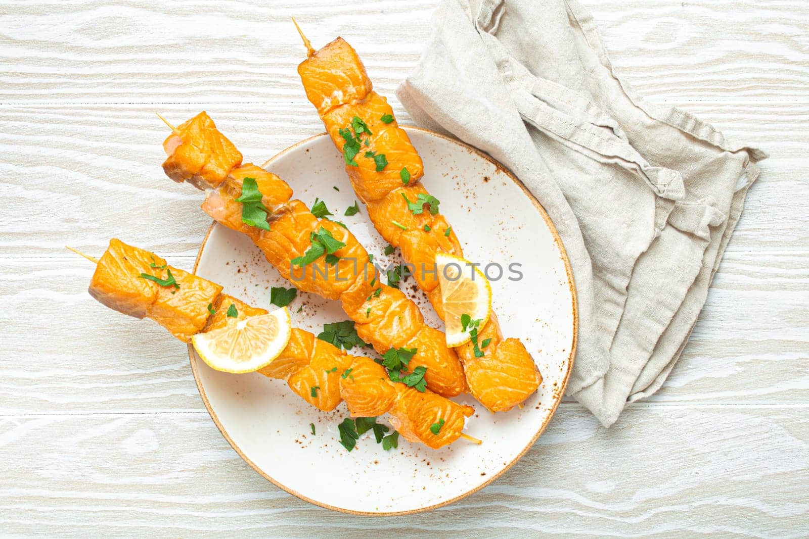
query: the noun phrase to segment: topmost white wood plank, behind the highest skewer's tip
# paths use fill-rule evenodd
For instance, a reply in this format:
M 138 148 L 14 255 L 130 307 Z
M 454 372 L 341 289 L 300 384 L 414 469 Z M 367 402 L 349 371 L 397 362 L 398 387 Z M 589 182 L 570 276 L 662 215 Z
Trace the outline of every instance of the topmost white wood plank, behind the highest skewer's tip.
M 583 3 L 642 95 L 807 99 L 803 0 Z M 435 4 L 13 2 L 0 13 L 0 103 L 295 102 L 303 48 L 291 16 L 317 45 L 348 38 L 390 95 L 417 62 Z

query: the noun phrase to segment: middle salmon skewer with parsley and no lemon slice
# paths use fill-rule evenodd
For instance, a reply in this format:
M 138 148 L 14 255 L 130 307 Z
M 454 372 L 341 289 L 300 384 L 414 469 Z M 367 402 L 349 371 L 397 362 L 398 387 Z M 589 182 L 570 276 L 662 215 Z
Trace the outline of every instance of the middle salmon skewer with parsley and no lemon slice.
M 172 135 L 163 142 L 167 154 L 163 170 L 176 182 L 205 190 L 205 213 L 251 238 L 269 263 L 300 290 L 340 300 L 359 338 L 380 354 L 392 348 L 416 349 L 408 368 L 426 368 L 430 390 L 443 397 L 466 392 L 463 368 L 443 332 L 426 326 L 416 304 L 398 288 L 379 282 L 376 267 L 354 234 L 335 221 L 316 217 L 302 201 L 290 200 L 292 189 L 277 175 L 242 164 L 242 154 L 205 112 L 177 128 L 168 125 Z M 249 203 L 253 204 L 249 216 L 255 217 L 251 223 L 245 217 L 248 180 L 256 185 L 256 200 Z M 321 255 L 300 263 L 316 241 L 337 248 L 327 255 L 321 247 Z

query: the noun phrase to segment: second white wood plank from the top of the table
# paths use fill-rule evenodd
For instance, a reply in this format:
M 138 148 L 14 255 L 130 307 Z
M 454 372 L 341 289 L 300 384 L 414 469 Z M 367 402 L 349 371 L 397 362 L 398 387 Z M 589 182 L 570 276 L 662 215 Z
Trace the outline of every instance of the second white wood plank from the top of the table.
M 110 236 L 167 255 L 196 253 L 210 219 L 199 210 L 201 193 L 163 174 L 167 128 L 155 111 L 179 122 L 202 108 L 246 161 L 263 162 L 322 129 L 307 103 L 0 107 L 0 145 L 9 156 L 0 163 L 0 257 L 64 256 L 66 243 L 100 251 Z M 688 108 L 773 154 L 761 162 L 730 249 L 805 250 L 809 103 Z

